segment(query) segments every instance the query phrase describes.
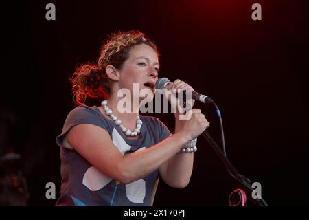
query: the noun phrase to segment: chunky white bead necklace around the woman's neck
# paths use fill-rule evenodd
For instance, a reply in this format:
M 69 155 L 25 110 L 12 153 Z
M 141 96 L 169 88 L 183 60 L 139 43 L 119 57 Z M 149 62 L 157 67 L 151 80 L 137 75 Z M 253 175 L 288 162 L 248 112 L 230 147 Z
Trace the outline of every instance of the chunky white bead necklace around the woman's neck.
M 104 100 L 104 101 L 101 102 L 101 105 L 102 105 L 106 115 L 108 115 L 115 122 L 115 124 L 119 126 L 120 130 L 122 130 L 122 132 L 124 132 L 126 134 L 126 136 L 135 137 L 139 133 L 141 133 L 141 124 L 143 124 L 143 122 L 139 119 L 139 116 L 137 116 L 136 128 L 132 132 L 130 129 L 127 129 L 125 126 L 122 125 L 121 120 L 119 120 L 115 115 L 113 115 L 113 111 L 108 108 L 107 102 L 108 102 L 107 100 Z

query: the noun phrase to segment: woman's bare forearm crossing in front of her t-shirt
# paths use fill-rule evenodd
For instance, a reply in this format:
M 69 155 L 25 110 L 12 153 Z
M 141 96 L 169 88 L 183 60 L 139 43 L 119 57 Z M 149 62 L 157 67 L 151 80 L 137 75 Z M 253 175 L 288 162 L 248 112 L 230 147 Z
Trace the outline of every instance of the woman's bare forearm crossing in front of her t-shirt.
M 119 162 L 119 170 L 125 183 L 140 179 L 158 169 L 168 159 L 173 157 L 187 143 L 187 138 L 181 133 L 174 134 L 155 146 L 125 155 Z M 178 160 L 178 159 L 176 159 Z

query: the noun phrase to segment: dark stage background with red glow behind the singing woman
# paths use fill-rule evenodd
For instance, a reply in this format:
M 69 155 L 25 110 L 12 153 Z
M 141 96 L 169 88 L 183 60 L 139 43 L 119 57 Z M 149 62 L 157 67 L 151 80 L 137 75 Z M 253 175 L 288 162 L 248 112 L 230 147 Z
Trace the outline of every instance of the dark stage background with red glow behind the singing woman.
M 106 34 L 137 29 L 161 52 L 159 76 L 180 78 L 211 96 L 225 125 L 227 154 L 262 184 L 269 205 L 308 205 L 308 61 L 306 1 L 21 1 L 1 3 L 1 108 L 18 118 L 12 143 L 23 155 L 30 205 L 53 206 L 60 193 L 55 137 L 73 109 L 69 76 L 95 61 Z M 56 21 L 45 5 L 56 5 Z M 251 5 L 262 5 L 262 21 Z M 207 115 L 218 140 L 215 111 Z M 173 129 L 172 114 L 158 114 Z M 203 137 L 192 181 L 159 185 L 155 205 L 227 206 L 237 184 Z

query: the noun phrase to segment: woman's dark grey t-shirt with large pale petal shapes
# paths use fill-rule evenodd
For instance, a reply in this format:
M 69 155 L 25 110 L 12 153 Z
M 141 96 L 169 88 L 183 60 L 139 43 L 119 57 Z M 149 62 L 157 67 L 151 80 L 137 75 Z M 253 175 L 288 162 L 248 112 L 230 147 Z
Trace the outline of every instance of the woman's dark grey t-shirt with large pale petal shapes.
M 94 124 L 105 129 L 124 155 L 143 151 L 170 136 L 158 118 L 140 116 L 143 125 L 137 140 L 128 139 L 115 122 L 108 120 L 98 107 L 79 106 L 65 120 L 56 137 L 61 157 L 61 195 L 56 206 L 150 206 L 159 170 L 130 184 L 122 184 L 89 164 L 73 149 L 64 147 L 63 137 L 77 124 Z

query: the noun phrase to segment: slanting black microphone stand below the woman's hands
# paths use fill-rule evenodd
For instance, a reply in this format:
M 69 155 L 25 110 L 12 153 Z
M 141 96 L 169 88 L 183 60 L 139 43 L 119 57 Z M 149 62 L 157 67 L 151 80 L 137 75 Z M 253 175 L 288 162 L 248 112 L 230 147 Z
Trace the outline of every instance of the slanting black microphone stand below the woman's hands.
M 249 194 L 248 197 L 250 198 L 250 201 L 255 206 L 268 206 L 268 204 L 266 203 L 266 201 L 264 201 L 264 199 L 262 199 L 262 197 L 261 197 L 261 199 L 253 199 L 252 192 L 253 192 L 254 189 L 252 188 L 249 179 L 247 177 L 244 177 L 244 175 L 240 175 L 240 173 L 238 173 L 238 171 L 233 166 L 233 164 L 231 164 L 229 159 L 227 159 L 227 157 L 225 157 L 225 154 L 222 152 L 222 150 L 220 149 L 218 144 L 216 144 L 214 139 L 209 135 L 208 131 L 205 130 L 205 131 L 203 131 L 202 134 L 205 137 L 205 139 L 207 140 L 207 142 L 209 142 L 210 146 L 214 149 L 216 154 L 220 157 L 223 164 L 225 164 L 225 168 L 227 168 L 227 172 L 229 173 L 229 175 L 231 175 L 231 177 L 236 179 L 236 181 L 238 181 L 239 184 L 241 184 L 242 186 L 245 187 L 247 193 Z

